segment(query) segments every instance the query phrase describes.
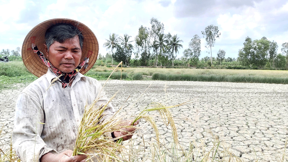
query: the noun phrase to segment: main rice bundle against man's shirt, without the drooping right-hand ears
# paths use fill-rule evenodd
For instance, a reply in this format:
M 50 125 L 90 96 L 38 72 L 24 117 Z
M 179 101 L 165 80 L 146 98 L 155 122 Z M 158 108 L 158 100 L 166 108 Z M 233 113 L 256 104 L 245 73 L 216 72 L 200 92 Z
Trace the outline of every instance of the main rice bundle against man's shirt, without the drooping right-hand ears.
M 121 128 L 132 126 L 120 126 L 121 120 L 114 116 L 99 124 L 102 113 L 111 102 L 111 99 L 101 106 L 95 105 L 97 101 L 96 99 L 90 106 L 85 107 L 73 156 L 77 154 L 86 154 L 90 157 L 98 155 L 103 161 L 122 161 L 118 154 L 123 152 L 124 146 L 114 142 L 115 139 L 109 138 L 108 134 L 113 131 L 123 131 Z

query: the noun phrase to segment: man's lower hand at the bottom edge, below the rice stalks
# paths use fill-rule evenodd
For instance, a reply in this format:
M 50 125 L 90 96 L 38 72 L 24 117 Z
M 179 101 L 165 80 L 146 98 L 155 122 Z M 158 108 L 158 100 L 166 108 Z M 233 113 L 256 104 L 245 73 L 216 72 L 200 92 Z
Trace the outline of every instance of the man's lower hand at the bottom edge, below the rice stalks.
M 40 158 L 40 162 L 85 162 L 86 155 L 72 156 L 72 150 L 66 150 L 62 153 L 47 153 Z

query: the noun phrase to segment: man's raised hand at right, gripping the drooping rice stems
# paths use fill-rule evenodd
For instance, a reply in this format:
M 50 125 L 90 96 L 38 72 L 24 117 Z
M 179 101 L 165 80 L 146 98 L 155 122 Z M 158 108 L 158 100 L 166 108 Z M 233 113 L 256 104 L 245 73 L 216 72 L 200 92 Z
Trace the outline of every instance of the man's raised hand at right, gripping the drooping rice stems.
M 125 125 L 132 125 L 133 120 L 123 120 L 120 124 L 120 126 L 125 126 Z M 137 120 L 134 125 L 137 125 L 139 123 L 139 120 Z M 114 136 L 116 138 L 123 136 L 123 141 L 125 140 L 129 140 L 130 138 L 132 138 L 134 131 L 136 130 L 136 128 L 122 128 L 124 131 L 114 131 Z M 128 135 L 127 135 L 128 134 Z M 126 136 L 125 136 L 126 135 Z

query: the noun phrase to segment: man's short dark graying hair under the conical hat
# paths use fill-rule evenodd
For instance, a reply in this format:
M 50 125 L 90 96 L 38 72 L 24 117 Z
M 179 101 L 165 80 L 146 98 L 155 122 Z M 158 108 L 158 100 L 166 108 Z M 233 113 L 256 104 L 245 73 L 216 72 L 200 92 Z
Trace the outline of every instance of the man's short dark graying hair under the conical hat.
M 48 51 L 54 41 L 64 43 L 66 39 L 74 38 L 76 35 L 78 35 L 80 47 L 83 49 L 84 37 L 81 32 L 82 31 L 79 31 L 75 26 L 67 23 L 59 23 L 50 26 L 45 33 L 45 43 Z

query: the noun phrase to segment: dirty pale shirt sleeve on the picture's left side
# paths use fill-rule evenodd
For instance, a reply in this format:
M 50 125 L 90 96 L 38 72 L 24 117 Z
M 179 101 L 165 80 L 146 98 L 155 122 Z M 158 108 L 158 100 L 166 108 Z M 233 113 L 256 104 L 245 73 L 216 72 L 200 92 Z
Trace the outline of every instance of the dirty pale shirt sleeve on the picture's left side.
M 12 144 L 23 162 L 39 161 L 48 152 L 57 153 L 56 150 L 47 148 L 41 139 L 43 123 L 41 99 L 22 92 L 16 102 Z

